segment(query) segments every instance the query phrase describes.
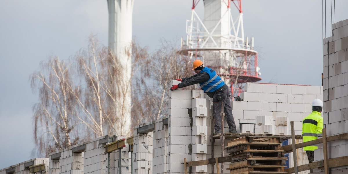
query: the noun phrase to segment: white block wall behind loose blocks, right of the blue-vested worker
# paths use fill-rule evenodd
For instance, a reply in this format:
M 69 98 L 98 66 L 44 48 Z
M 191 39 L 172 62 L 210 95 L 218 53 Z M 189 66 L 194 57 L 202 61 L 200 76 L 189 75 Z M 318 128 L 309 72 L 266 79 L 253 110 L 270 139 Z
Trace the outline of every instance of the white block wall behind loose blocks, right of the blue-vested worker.
M 243 101 L 232 101 L 236 124 L 255 123 L 256 116 L 272 116 L 274 121 L 277 117 L 288 117 L 288 121 L 294 121 L 295 134 L 301 135 L 302 120 L 312 112 L 313 100 L 323 99 L 322 89 L 321 86 L 247 83 L 245 92 L 240 94 Z M 238 127 L 237 131 L 240 132 Z M 256 125 L 255 133 L 261 133 L 260 125 Z

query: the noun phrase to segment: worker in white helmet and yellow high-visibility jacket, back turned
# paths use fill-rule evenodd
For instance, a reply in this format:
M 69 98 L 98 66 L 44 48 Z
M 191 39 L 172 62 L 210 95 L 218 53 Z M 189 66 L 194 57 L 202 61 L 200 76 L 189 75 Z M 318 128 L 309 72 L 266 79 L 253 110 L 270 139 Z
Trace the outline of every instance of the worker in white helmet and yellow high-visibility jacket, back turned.
M 303 142 L 317 140 L 318 137 L 323 136 L 323 117 L 321 112 L 323 110 L 323 101 L 315 99 L 312 102 L 312 113 L 302 120 L 302 136 Z M 304 147 L 306 151 L 309 163 L 314 160 L 314 150 L 318 149 L 317 145 L 311 145 Z M 312 171 L 311 171 L 312 172 Z

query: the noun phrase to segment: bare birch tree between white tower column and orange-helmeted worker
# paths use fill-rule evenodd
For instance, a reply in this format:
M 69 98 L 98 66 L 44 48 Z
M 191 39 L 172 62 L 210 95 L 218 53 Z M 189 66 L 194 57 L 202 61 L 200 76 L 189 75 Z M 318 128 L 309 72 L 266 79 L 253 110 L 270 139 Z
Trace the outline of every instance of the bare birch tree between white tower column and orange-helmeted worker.
M 164 41 L 161 48 L 147 57 L 139 67 L 141 74 L 133 78 L 132 97 L 132 116 L 139 119 L 134 120 L 133 125 L 166 116 L 171 81 L 193 75 L 193 60 L 178 51 L 174 44 Z M 186 88 L 191 89 L 194 86 Z

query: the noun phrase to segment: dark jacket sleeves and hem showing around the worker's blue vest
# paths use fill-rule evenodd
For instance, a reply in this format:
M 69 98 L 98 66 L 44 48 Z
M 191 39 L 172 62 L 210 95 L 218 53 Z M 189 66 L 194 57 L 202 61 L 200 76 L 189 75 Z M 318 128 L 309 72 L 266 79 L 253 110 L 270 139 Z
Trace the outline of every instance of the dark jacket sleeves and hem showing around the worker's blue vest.
M 209 77 L 209 74 L 204 72 L 204 71 L 200 71 L 200 73 L 198 74 L 195 74 L 191 77 L 185 77 L 185 78 L 182 78 L 182 82 L 178 84 L 178 87 L 179 88 L 183 88 L 183 87 L 186 87 L 186 86 L 190 86 L 190 85 L 195 85 L 195 84 L 199 84 L 201 82 L 206 82 L 210 79 Z M 213 91 L 213 92 L 206 92 L 207 95 L 211 98 L 213 98 L 213 95 L 218 92 L 218 91 L 222 91 L 222 90 L 225 90 L 227 89 L 228 86 L 226 84 L 224 84 L 222 87 L 220 87 L 219 89 Z

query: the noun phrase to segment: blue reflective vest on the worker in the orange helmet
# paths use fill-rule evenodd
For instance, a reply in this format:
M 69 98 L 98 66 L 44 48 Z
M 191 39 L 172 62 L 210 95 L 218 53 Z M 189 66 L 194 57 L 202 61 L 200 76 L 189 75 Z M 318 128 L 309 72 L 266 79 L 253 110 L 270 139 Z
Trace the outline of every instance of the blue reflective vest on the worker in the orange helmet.
M 205 93 L 214 92 L 225 84 L 225 82 L 219 76 L 217 76 L 214 70 L 204 67 L 201 71 L 208 73 L 210 77 L 208 81 L 199 83 L 200 88 L 202 88 Z

